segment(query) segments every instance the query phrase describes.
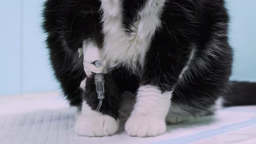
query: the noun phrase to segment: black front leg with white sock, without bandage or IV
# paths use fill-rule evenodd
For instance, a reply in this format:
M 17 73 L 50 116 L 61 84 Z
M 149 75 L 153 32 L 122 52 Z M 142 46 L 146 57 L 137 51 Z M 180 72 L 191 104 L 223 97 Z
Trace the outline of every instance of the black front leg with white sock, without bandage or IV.
M 165 118 L 171 106 L 172 91 L 191 50 L 169 47 L 165 42 L 175 45 L 168 39 L 154 40 L 145 58 L 134 110 L 125 124 L 125 131 L 131 136 L 157 136 L 166 131 Z

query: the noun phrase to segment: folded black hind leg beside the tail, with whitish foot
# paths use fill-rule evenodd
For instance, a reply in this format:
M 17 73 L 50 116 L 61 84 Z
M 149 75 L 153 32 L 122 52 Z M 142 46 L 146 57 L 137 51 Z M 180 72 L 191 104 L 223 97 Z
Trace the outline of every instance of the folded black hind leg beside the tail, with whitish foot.
M 167 115 L 169 123 L 195 121 L 222 107 L 221 96 L 228 90 L 231 66 L 226 61 L 228 55 L 219 56 L 218 59 L 211 56 L 194 60 L 180 77 Z

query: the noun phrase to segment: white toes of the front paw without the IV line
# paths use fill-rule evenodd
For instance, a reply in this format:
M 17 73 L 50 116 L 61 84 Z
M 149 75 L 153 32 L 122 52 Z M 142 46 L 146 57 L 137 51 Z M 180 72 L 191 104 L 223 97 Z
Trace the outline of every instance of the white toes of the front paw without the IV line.
M 147 137 L 163 134 L 166 125 L 163 119 L 152 116 L 131 116 L 125 123 L 125 131 L 130 136 Z

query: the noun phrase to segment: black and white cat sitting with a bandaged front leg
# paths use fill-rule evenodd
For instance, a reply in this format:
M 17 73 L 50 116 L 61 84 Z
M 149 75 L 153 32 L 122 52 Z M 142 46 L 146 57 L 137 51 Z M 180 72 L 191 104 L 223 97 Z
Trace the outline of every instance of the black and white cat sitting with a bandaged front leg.
M 56 78 L 70 105 L 81 108 L 78 135 L 114 134 L 124 92 L 136 95 L 125 130 L 138 137 L 211 114 L 217 103 L 256 104 L 256 84 L 229 81 L 224 0 L 47 0 L 43 16 Z M 107 63 L 99 112 L 94 79 L 78 56 L 84 40 L 102 49 Z

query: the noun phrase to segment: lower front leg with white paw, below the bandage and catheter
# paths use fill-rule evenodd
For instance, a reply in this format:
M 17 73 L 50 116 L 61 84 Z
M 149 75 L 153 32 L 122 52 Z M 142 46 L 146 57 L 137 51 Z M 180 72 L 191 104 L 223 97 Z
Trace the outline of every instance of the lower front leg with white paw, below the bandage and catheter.
M 112 76 L 105 74 L 105 98 L 99 111 L 98 98 L 93 78 L 86 78 L 85 91 L 80 115 L 77 117 L 75 132 L 79 136 L 101 137 L 114 134 L 119 126 L 120 93 Z

